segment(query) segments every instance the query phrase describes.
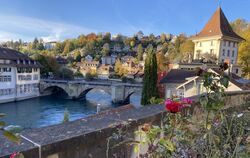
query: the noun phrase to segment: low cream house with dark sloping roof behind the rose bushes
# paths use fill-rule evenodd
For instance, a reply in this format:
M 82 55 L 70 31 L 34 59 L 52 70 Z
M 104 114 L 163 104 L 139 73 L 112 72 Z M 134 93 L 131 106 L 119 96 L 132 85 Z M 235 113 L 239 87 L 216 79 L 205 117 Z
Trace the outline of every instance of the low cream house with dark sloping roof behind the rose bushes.
M 218 69 L 208 69 L 215 74 L 220 74 Z M 172 96 L 192 97 L 206 93 L 206 89 L 202 84 L 202 78 L 196 75 L 194 70 L 172 69 L 160 81 L 165 86 L 165 98 Z M 229 86 L 225 90 L 242 91 L 250 89 L 250 81 L 245 80 L 233 73 L 229 74 Z

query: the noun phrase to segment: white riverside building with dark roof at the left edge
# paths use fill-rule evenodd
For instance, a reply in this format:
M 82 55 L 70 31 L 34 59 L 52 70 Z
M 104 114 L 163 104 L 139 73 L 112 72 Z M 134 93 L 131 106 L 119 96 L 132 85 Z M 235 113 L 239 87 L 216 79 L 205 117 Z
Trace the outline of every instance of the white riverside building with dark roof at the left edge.
M 39 96 L 40 68 L 21 52 L 0 48 L 0 103 Z

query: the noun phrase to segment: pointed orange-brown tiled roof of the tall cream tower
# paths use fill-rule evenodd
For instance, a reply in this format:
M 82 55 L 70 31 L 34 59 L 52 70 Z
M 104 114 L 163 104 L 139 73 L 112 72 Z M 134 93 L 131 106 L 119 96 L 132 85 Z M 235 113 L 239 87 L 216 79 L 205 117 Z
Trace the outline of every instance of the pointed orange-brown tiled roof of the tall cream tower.
M 219 7 L 215 11 L 215 13 L 210 18 L 208 23 L 205 25 L 203 30 L 199 34 L 194 36 L 194 38 L 217 36 L 217 35 L 232 37 L 240 41 L 244 40 L 242 37 L 240 37 L 233 31 L 221 7 Z

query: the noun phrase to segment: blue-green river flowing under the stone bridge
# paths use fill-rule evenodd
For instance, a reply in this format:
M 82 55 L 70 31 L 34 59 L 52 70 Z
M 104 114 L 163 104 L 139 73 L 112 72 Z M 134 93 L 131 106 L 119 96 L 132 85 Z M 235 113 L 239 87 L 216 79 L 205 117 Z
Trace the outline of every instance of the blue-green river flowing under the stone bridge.
M 52 95 L 0 104 L 0 113 L 7 115 L 1 120 L 8 125 L 19 125 L 25 129 L 38 128 L 61 123 L 65 109 L 69 112 L 70 121 L 73 121 L 95 114 L 97 104 L 101 105 L 101 110 L 115 108 L 111 103 L 111 96 L 105 92 L 91 91 L 86 99 L 73 101 Z M 132 95 L 130 100 L 131 104 L 139 106 L 139 95 Z

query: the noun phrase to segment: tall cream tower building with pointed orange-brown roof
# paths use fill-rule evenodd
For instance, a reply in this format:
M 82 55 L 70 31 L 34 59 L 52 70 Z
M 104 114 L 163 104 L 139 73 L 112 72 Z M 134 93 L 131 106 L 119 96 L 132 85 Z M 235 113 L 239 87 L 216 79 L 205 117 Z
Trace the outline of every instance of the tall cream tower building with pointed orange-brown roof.
M 237 35 L 230 26 L 225 14 L 219 7 L 202 31 L 191 37 L 195 44 L 194 48 L 194 65 L 180 65 L 180 68 L 195 68 L 204 63 L 203 59 L 207 56 L 215 58 L 214 65 L 227 62 L 231 68 L 231 72 L 241 75 L 240 67 L 237 65 L 238 46 L 244 39 Z M 207 61 L 205 61 L 207 62 Z M 212 64 L 210 64 L 212 65 Z

